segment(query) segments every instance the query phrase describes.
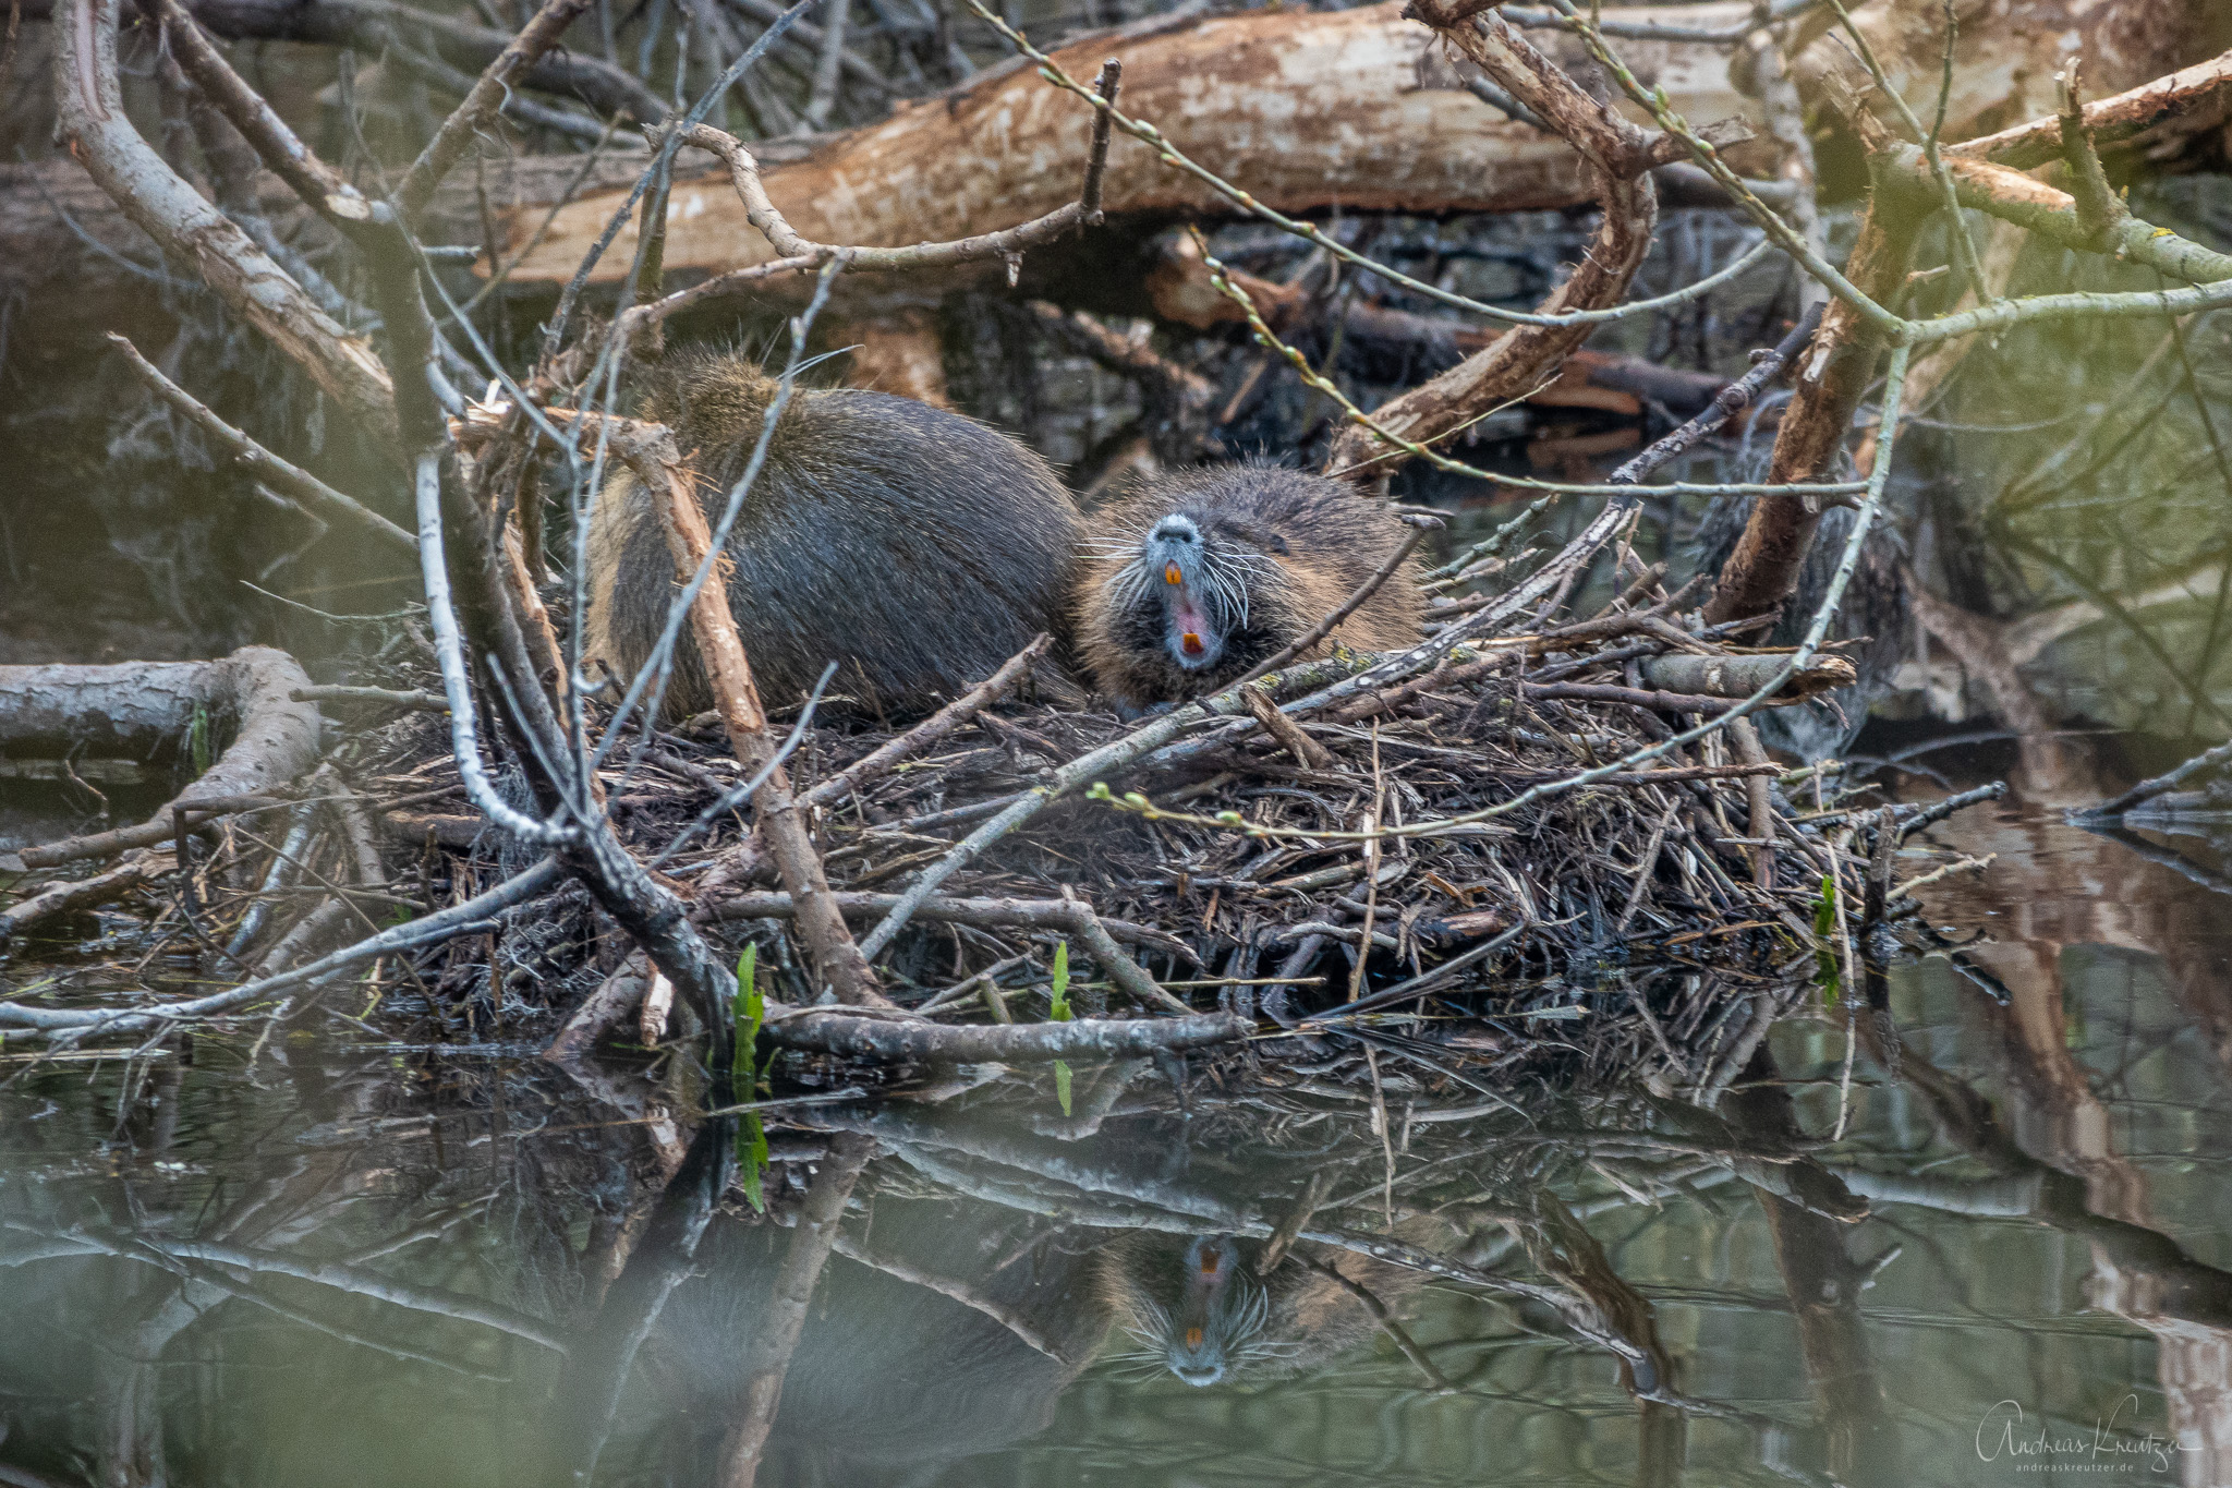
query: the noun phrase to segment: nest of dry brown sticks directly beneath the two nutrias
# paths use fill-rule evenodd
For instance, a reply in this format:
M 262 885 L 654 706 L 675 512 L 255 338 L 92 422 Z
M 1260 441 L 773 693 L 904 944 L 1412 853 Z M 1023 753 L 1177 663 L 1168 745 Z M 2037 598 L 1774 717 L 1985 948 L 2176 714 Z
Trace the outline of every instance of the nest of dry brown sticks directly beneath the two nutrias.
M 1437 625 L 1480 611 L 1493 596 L 1464 591 L 1502 567 L 1475 549 L 1437 569 Z M 1060 953 L 1080 1015 L 1221 1008 L 1270 1035 L 1261 1057 L 1362 1040 L 1462 1084 L 1647 1069 L 1712 1089 L 1774 1015 L 1853 977 L 1864 917 L 1913 910 L 1879 870 L 1922 812 L 1841 801 L 1832 767 L 1786 772 L 1741 718 L 1574 785 L 1728 714 L 1788 660 L 1728 645 L 1681 600 L 1643 573 L 1582 618 L 1527 605 L 1466 625 L 1411 676 L 1335 649 L 1145 723 L 1016 696 L 1027 654 L 911 729 L 830 705 L 792 718 L 788 772 L 886 993 L 937 1024 L 1047 1020 Z M 1821 656 L 1777 700 L 1848 683 Z M 437 716 L 408 714 L 357 734 L 353 774 L 455 904 L 491 877 L 475 859 L 518 863 L 431 799 L 444 747 Z M 699 930 L 757 946 L 770 995 L 804 1006 L 808 955 L 739 774 L 708 714 L 629 732 L 603 779 L 623 843 Z M 924 875 L 942 875 L 926 897 Z M 598 953 L 580 890 L 560 901 L 571 919 L 513 912 L 493 959 L 429 953 L 413 979 L 437 997 L 397 988 L 388 1008 L 455 1031 L 466 1002 L 502 1020 L 527 999 L 571 1011 L 560 1042 L 585 1046 L 656 977 Z M 877 939 L 899 906 L 904 928 Z

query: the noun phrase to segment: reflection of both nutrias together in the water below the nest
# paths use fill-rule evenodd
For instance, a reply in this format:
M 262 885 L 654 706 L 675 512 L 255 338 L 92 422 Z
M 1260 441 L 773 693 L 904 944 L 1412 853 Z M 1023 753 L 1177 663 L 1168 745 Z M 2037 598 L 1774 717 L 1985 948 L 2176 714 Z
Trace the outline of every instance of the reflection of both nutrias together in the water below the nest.
M 1158 1231 L 1109 1240 L 893 1191 L 877 1194 L 873 1220 L 846 1234 L 790 1359 L 763 1484 L 897 1488 L 924 1481 L 935 1463 L 1022 1441 L 1054 1419 L 1112 1325 L 1129 1343 L 1118 1363 L 1143 1379 L 1170 1370 L 1190 1385 L 1299 1374 L 1373 1334 L 1364 1305 L 1299 1254 L 1259 1276 L 1261 1240 Z M 703 1477 L 737 1419 L 739 1341 L 788 1249 L 779 1225 L 714 1220 L 692 1278 L 645 1343 L 661 1399 L 687 1401 L 690 1430 L 656 1448 L 674 1481 Z M 1422 1281 L 1368 1256 L 1315 1254 L 1391 1305 Z

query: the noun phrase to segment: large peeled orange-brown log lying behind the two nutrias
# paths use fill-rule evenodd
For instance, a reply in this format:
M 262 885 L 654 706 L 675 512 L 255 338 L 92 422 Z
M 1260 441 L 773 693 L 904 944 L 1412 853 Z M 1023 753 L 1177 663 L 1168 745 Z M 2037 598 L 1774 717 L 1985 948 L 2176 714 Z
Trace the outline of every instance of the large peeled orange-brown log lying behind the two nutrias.
M 1725 0 L 1652 11 L 1705 27 L 1745 13 Z M 1473 98 L 1431 42 L 1433 33 L 1402 20 L 1399 2 L 1388 0 L 1328 13 L 1158 18 L 1071 42 L 1054 58 L 1078 78 L 1091 78 L 1103 58 L 1120 58 L 1127 114 L 1283 212 L 1509 212 L 1594 196 L 1565 141 Z M 1632 62 L 1663 78 L 1676 107 L 1701 123 L 1757 116 L 1714 47 L 1632 42 Z M 770 165 L 763 181 L 804 236 L 891 248 L 1013 225 L 1074 201 L 1087 141 L 1089 109 L 1018 58 L 940 98 L 904 103 L 888 120 L 835 136 L 804 161 Z M 1743 147 L 1734 154 L 1745 158 Z M 623 196 L 603 192 L 565 207 L 513 277 L 567 279 Z M 1103 201 L 1112 214 L 1228 207 L 1123 136 L 1109 149 Z M 502 225 L 525 241 L 536 221 L 513 214 Z M 632 232 L 623 228 L 600 279 L 627 270 Z M 670 274 L 772 257 L 721 176 L 674 183 Z

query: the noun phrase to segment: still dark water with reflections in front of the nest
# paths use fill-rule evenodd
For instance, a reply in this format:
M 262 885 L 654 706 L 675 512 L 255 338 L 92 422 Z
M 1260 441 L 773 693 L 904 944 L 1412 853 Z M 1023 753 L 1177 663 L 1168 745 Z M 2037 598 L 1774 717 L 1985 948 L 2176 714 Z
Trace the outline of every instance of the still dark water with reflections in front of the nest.
M 1933 832 L 2000 857 L 1928 892 L 1978 944 L 1893 968 L 1897 1046 L 1817 1006 L 1710 1111 L 1667 1071 L 1391 1082 L 1379 1131 L 1292 1066 L 1078 1071 L 1067 1120 L 806 1089 L 759 1218 L 692 1198 L 670 1091 L 529 1044 L 9 1053 L 0 1484 L 737 1481 L 786 1292 L 786 1488 L 2232 1484 L 2221 857 L 2020 785 Z

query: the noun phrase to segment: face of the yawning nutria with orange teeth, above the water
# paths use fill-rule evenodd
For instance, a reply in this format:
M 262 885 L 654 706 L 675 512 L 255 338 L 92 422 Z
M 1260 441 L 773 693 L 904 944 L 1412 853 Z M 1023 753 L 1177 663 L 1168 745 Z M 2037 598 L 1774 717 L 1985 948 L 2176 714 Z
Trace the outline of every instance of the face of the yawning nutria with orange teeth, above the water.
M 1152 634 L 1181 671 L 1208 674 L 1248 631 L 1254 591 L 1272 573 L 1270 555 L 1228 524 L 1172 511 L 1147 529 L 1109 589 L 1134 636 Z

